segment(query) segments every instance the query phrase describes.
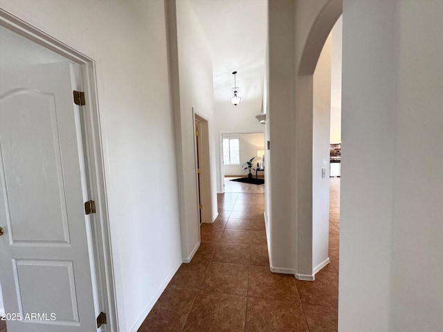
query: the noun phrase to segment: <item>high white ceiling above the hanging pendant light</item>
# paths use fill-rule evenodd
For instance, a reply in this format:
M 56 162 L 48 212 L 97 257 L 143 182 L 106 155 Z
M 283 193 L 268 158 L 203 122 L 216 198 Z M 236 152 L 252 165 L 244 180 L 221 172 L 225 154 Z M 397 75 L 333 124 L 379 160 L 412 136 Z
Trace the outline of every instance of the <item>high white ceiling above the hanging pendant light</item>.
M 267 37 L 266 0 L 189 2 L 213 55 L 215 101 L 218 95 L 226 99 L 232 95 L 233 71 L 237 71 L 242 98 L 242 91 L 261 91 Z M 219 89 L 226 94 L 217 93 Z

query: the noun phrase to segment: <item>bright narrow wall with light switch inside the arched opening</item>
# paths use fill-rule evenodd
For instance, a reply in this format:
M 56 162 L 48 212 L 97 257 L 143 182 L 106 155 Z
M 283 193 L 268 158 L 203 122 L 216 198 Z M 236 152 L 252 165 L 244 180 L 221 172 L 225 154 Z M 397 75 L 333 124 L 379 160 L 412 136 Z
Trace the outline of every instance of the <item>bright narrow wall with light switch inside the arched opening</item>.
M 312 269 L 329 262 L 329 129 L 331 114 L 331 46 L 329 35 L 314 72 L 312 131 Z M 322 168 L 325 177 L 322 178 Z

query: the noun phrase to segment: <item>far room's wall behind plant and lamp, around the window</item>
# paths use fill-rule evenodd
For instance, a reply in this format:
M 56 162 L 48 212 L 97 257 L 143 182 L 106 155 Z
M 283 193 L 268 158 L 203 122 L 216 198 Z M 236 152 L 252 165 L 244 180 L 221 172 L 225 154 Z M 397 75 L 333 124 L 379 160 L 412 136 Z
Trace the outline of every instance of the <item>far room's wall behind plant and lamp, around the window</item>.
M 238 137 L 240 165 L 224 165 L 225 176 L 246 176 L 249 171 L 242 168 L 243 163 L 254 157 L 253 168 L 257 168 L 257 161 L 261 160 L 257 158 L 257 150 L 264 150 L 264 133 L 240 133 Z M 251 172 L 255 174 L 254 171 Z M 260 175 L 263 175 L 263 172 Z

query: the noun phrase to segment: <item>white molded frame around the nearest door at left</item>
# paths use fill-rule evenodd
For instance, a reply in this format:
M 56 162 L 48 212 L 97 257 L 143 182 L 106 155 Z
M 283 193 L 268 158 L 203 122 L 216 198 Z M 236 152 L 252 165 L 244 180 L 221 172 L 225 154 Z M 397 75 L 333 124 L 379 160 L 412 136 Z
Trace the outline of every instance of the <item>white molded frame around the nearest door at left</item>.
M 82 71 L 82 85 L 86 96 L 84 105 L 84 154 L 87 167 L 88 194 L 96 201 L 96 214 L 91 223 L 93 255 L 95 271 L 91 276 L 98 288 L 99 311 L 107 314 L 107 324 L 102 331 L 118 331 L 116 308 L 116 291 L 114 284 L 114 268 L 112 264 L 111 237 L 109 232 L 109 216 L 107 191 L 105 182 L 105 162 L 102 147 L 102 131 L 100 127 L 100 109 L 97 98 L 96 62 L 91 57 L 47 35 L 42 30 L 31 26 L 0 8 L 0 25 L 53 50 L 76 64 Z

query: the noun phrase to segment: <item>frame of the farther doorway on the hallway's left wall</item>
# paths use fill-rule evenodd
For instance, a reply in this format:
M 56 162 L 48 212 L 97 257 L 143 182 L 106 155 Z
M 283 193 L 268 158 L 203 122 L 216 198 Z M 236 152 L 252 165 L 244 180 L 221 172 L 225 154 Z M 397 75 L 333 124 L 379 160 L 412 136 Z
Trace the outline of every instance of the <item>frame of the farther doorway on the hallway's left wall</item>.
M 194 108 L 192 108 L 192 118 L 194 124 L 194 133 L 195 133 L 195 121 L 199 121 L 200 128 L 200 138 L 201 138 L 201 147 L 200 147 L 200 161 L 201 161 L 201 173 L 200 173 L 200 185 L 199 185 L 199 174 L 197 173 L 197 136 L 194 135 L 194 151 L 195 151 L 195 174 L 196 176 L 196 185 L 197 185 L 197 201 L 199 199 L 199 195 L 201 198 L 201 205 L 203 208 L 201 211 L 201 223 L 212 223 L 213 222 L 213 203 L 212 203 L 212 195 L 211 195 L 211 185 L 210 185 L 210 158 L 209 158 L 209 122 L 201 116 L 201 114 L 197 113 Z M 199 192 L 200 191 L 200 192 Z M 199 206 L 197 206 L 199 209 Z M 200 212 L 199 211 L 199 212 Z

